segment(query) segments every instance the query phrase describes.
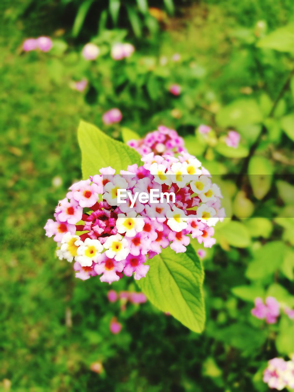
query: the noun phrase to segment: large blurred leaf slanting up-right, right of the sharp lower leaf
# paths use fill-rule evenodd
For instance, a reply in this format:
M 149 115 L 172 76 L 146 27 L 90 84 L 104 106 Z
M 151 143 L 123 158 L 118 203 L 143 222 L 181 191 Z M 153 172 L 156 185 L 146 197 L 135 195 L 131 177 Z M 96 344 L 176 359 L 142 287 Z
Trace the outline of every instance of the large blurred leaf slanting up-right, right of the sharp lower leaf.
M 247 278 L 264 279 L 274 274 L 283 263 L 285 248 L 282 241 L 272 241 L 256 250 L 245 273 Z

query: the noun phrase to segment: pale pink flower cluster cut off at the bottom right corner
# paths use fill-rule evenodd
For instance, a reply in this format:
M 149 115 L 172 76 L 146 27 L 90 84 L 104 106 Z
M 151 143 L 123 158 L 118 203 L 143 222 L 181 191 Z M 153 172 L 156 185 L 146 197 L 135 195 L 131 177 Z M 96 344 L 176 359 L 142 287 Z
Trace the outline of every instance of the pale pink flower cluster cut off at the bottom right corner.
M 294 361 L 283 358 L 273 358 L 263 373 L 263 381 L 271 389 L 282 390 L 286 387 L 294 388 Z

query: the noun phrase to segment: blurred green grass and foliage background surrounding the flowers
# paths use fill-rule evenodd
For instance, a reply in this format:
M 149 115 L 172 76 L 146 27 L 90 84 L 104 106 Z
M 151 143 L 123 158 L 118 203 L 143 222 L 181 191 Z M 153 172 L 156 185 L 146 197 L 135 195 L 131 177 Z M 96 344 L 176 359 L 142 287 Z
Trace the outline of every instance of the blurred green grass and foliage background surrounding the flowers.
M 294 167 L 294 60 L 285 45 L 271 49 L 277 48 L 268 35 L 291 22 L 293 3 L 227 0 L 177 7 L 176 17 L 160 22 L 161 31 L 142 27 L 140 39 L 132 29 L 97 33 L 96 15 L 73 39 L 77 8 L 65 17 L 56 12 L 59 2 L 2 7 L 0 390 L 9 390 L 9 383 L 16 392 L 267 390 L 261 381 L 267 360 L 294 352 L 292 321 L 270 326 L 250 315 L 256 296 L 294 306 L 288 181 Z M 21 51 L 24 38 L 44 33 L 54 38 L 52 52 Z M 87 40 L 100 47 L 96 62 L 80 55 Z M 111 59 L 117 41 L 136 46 L 131 58 Z M 177 62 L 174 53 L 180 54 Z M 72 91 L 69 84 L 82 77 L 89 80 L 87 90 Z M 169 93 L 171 83 L 181 85 L 180 96 Z M 123 120 L 106 127 L 101 117 L 111 107 L 120 108 Z M 203 334 L 150 303 L 121 310 L 108 302 L 106 284 L 79 281 L 71 265 L 56 260 L 43 227 L 82 176 L 76 138 L 81 118 L 114 138 L 125 127 L 143 135 L 164 123 L 185 137 L 207 169 L 225 175 L 220 185 L 228 219 L 217 226 L 217 245 L 203 260 Z M 196 131 L 201 123 L 212 127 L 207 138 Z M 241 134 L 238 149 L 223 140 L 231 128 Z M 260 178 L 240 177 L 247 173 L 266 174 L 270 181 L 256 185 Z M 122 280 L 111 288 L 138 290 L 132 279 Z M 118 335 L 109 331 L 113 316 L 123 325 Z M 90 369 L 97 361 L 102 374 Z

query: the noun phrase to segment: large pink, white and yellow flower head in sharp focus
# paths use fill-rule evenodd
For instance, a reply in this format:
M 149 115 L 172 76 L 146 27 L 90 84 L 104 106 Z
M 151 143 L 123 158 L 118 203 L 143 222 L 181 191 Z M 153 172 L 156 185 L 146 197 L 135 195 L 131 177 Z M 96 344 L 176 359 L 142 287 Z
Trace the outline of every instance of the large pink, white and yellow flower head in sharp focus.
M 100 281 L 112 283 L 134 274 L 141 279 L 149 270 L 147 257 L 168 246 L 185 252 L 189 235 L 204 247 L 215 243 L 213 226 L 224 217 L 221 193 L 200 161 L 185 152 L 177 158 L 151 152 L 142 162 L 120 174 L 103 168 L 74 183 L 59 201 L 55 220 L 47 221 L 46 235 L 58 243 L 58 258 L 75 261 L 77 278 L 100 275 Z M 127 191 L 123 203 L 118 189 Z M 132 206 L 132 195 L 152 189 L 166 199 L 172 193 L 175 200 L 136 200 Z

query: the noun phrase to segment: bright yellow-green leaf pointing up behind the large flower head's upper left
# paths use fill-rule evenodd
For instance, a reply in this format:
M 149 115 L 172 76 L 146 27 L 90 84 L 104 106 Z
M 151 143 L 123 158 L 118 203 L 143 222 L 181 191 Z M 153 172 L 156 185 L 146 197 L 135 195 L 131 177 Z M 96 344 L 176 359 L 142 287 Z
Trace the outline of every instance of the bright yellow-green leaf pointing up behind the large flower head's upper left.
M 81 121 L 78 142 L 82 151 L 83 178 L 98 174 L 102 167 L 111 166 L 116 172 L 128 165 L 141 165 L 141 156 L 131 147 L 107 136 L 94 125 Z

